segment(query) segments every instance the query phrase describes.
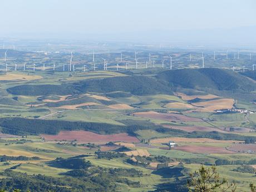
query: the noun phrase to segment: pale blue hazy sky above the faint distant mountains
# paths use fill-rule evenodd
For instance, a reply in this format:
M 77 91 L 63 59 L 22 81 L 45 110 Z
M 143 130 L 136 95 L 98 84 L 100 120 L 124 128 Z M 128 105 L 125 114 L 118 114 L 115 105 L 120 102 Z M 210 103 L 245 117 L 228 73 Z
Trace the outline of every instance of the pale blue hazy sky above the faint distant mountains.
M 0 34 L 137 33 L 256 26 L 255 0 L 8 0 Z

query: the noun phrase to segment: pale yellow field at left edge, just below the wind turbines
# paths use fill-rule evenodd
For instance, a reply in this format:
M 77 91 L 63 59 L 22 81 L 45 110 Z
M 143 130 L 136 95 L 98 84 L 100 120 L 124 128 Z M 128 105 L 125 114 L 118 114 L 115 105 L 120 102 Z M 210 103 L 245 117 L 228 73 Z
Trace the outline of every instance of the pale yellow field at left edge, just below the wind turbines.
M 18 73 L 6 73 L 4 75 L 0 75 L 0 81 L 15 81 L 15 80 L 22 80 L 22 81 L 32 81 L 32 80 L 40 80 L 43 78 L 39 75 L 24 75 Z

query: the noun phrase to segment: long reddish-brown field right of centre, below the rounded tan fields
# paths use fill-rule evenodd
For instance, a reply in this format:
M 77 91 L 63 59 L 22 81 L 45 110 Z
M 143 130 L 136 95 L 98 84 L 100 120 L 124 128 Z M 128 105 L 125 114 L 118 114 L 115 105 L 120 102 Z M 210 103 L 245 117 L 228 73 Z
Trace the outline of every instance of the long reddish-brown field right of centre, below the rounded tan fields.
M 185 115 L 181 114 L 168 114 L 168 113 L 159 113 L 159 112 L 135 112 L 135 116 L 138 117 L 146 117 L 149 119 L 159 119 L 159 120 L 165 120 L 165 121 L 183 121 L 183 122 L 188 122 L 188 121 L 193 121 L 193 122 L 200 122 L 203 121 L 199 118 L 195 117 L 188 117 Z

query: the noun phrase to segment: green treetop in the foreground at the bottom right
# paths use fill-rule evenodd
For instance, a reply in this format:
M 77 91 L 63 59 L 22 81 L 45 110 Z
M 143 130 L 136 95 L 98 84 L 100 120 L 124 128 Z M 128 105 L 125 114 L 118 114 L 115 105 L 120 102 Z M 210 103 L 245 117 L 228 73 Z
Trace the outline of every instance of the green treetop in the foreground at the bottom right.
M 198 171 L 191 172 L 189 176 L 189 192 L 234 192 L 236 190 L 235 183 L 229 184 L 225 178 L 220 179 L 216 166 L 205 168 L 201 165 Z

